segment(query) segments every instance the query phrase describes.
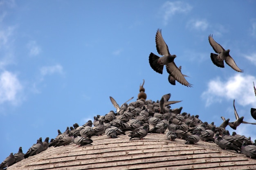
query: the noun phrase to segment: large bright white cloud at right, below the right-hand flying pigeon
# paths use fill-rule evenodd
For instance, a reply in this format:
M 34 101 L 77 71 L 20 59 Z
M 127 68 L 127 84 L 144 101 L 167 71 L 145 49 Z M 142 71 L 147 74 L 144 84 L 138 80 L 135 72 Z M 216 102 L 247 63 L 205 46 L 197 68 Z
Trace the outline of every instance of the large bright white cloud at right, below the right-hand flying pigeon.
M 252 75 L 239 73 L 230 77 L 227 82 L 217 77 L 210 80 L 207 91 L 204 91 L 201 97 L 206 100 L 206 106 L 221 102 L 223 99 L 236 99 L 236 102 L 242 106 L 255 105 L 256 97 L 252 83 L 255 80 L 256 77 Z

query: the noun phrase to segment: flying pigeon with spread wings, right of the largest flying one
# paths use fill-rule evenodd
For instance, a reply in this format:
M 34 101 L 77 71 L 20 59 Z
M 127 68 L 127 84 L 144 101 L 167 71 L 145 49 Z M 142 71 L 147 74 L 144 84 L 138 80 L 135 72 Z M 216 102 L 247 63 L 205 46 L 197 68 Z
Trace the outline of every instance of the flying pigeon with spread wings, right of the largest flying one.
M 211 61 L 213 62 L 213 64 L 215 64 L 218 67 L 224 68 L 223 61 L 225 60 L 227 65 L 229 65 L 235 71 L 244 72 L 243 70 L 238 68 L 234 59 L 229 55 L 229 51 L 230 51 L 229 49 L 228 50 L 223 49 L 223 47 L 220 44 L 218 44 L 215 40 L 213 40 L 212 35 L 209 35 L 208 40 L 209 40 L 209 43 L 212 46 L 213 50 L 216 53 L 218 53 L 218 54 L 211 53 Z

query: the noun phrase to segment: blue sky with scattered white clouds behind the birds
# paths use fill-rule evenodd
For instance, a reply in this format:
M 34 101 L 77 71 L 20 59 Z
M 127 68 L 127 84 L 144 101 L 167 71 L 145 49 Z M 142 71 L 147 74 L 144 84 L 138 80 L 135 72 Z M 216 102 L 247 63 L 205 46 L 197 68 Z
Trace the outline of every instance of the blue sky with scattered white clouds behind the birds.
M 252 0 L 0 0 L 0 161 L 115 110 L 109 96 L 134 102 L 142 79 L 147 99 L 171 93 L 182 100 L 172 108 L 202 121 L 234 121 L 235 99 L 238 115 L 256 122 L 255 8 Z M 192 88 L 173 86 L 165 68 L 160 75 L 150 67 L 158 28 Z M 244 73 L 211 62 L 209 34 Z M 255 140 L 255 128 L 241 124 L 236 132 Z

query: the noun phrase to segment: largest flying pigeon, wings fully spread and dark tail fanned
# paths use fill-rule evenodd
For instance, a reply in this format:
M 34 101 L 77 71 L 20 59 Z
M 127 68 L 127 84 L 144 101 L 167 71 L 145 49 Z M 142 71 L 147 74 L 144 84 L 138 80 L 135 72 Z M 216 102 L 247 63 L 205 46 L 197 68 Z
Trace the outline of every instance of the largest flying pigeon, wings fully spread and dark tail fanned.
M 177 82 L 180 84 L 192 87 L 192 84 L 186 81 L 184 78 L 184 75 L 181 73 L 180 69 L 177 68 L 174 59 L 176 55 L 171 55 L 168 50 L 167 44 L 164 42 L 164 39 L 162 37 L 161 30 L 157 30 L 156 36 L 155 36 L 155 42 L 157 47 L 157 52 L 160 55 L 163 55 L 162 57 L 158 57 L 154 53 L 150 53 L 149 55 L 149 64 L 151 68 L 156 71 L 157 73 L 163 74 L 164 65 L 166 66 L 166 71 L 171 75 Z

